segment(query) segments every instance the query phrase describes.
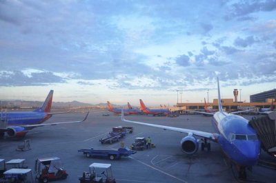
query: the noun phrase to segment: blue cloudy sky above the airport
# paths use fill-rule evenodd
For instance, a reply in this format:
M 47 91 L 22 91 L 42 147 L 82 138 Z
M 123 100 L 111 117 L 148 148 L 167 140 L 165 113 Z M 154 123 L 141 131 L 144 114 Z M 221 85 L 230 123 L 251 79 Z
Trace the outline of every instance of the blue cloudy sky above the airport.
M 249 102 L 276 87 L 276 1 L 0 0 L 0 99 Z M 177 92 L 179 91 L 179 92 Z

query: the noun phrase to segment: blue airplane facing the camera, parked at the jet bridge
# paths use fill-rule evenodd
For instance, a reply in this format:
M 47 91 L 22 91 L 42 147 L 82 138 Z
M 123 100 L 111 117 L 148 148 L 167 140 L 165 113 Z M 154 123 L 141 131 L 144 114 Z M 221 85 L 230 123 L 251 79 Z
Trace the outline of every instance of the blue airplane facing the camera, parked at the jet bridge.
M 180 144 L 182 151 L 188 154 L 196 153 L 199 149 L 199 139 L 196 137 L 204 139 L 204 142 L 201 142 L 202 151 L 204 149 L 210 151 L 209 141 L 216 142 L 230 162 L 233 162 L 237 166 L 239 178 L 246 180 L 246 168 L 251 168 L 257 164 L 261 151 L 261 143 L 257 138 L 256 131 L 248 124 L 248 120 L 242 118 L 242 116 L 228 114 L 223 111 L 219 91 L 219 78 L 217 78 L 217 91 L 219 111 L 213 114 L 212 120 L 215 133 L 126 120 L 124 118 L 124 111 L 121 113 L 121 120 L 148 127 L 187 133 L 188 136 L 182 138 Z

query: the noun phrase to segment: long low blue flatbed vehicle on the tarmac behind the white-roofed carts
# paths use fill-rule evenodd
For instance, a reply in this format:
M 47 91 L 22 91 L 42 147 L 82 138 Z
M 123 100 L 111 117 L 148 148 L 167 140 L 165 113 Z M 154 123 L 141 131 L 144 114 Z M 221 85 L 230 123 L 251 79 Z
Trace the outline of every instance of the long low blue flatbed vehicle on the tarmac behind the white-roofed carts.
M 86 157 L 103 157 L 109 158 L 110 160 L 115 160 L 121 158 L 121 156 L 129 156 L 135 154 L 136 151 L 130 151 L 127 147 L 119 148 L 118 151 L 115 150 L 95 150 L 91 149 L 79 149 L 78 152 L 83 153 Z

